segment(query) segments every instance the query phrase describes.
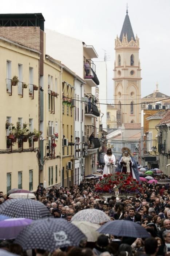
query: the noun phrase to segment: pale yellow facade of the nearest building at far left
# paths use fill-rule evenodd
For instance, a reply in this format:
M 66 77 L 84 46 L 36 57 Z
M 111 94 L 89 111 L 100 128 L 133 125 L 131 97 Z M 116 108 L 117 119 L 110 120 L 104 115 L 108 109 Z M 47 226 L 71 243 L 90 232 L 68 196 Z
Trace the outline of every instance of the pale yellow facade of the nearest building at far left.
M 0 187 L 4 193 L 11 188 L 35 190 L 39 183 L 35 151 L 38 142 L 32 140 L 31 144 L 28 140 L 9 139 L 12 128 L 17 125 L 23 128 L 27 124 L 29 131 L 39 129 L 39 55 L 39 50 L 0 37 Z M 13 76 L 18 78 L 15 86 L 12 85 Z M 27 84 L 27 88 L 23 89 L 23 84 Z

